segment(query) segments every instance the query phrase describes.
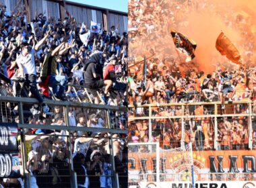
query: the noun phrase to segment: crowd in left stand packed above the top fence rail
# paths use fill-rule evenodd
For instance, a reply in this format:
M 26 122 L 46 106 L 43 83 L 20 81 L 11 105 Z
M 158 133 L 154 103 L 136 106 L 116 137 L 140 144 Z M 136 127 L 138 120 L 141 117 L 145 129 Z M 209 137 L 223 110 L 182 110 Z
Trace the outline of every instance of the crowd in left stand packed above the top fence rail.
M 127 33 L 78 24 L 71 15 L 61 20 L 40 13 L 28 23 L 26 11 L 1 8 L 1 82 L 12 85 L 15 96 L 23 82 L 44 113 L 44 99 L 85 95 L 67 84 L 100 89 L 106 104 L 110 90 L 121 91 L 125 102 Z

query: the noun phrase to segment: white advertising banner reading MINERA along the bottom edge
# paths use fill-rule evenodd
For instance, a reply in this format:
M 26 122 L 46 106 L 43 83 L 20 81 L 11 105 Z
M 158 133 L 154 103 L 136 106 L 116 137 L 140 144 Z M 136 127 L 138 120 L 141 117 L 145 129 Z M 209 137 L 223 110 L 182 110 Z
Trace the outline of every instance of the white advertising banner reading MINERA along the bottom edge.
M 189 182 L 141 182 L 139 188 L 190 188 Z M 256 181 L 201 181 L 195 183 L 195 188 L 256 188 Z

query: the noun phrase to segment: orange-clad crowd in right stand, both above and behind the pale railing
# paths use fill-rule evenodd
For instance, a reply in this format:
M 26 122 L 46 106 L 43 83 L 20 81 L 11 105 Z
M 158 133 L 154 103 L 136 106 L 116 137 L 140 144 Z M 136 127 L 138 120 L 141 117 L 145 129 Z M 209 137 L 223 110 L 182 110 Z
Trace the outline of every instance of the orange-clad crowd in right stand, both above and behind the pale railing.
M 181 106 L 165 106 L 161 103 L 210 104 L 212 101 L 221 101 L 218 111 L 220 109 L 222 114 L 242 114 L 248 113 L 249 106 L 232 102 L 253 101 L 252 111 L 256 112 L 256 58 L 253 54 L 256 41 L 251 27 L 255 25 L 251 19 L 253 15 L 245 7 L 240 7 L 243 11 L 238 11 L 235 6 L 226 9 L 224 4 L 201 0 L 129 1 L 129 117 L 147 117 L 149 108 L 141 106 L 143 104 L 152 105 L 153 117 L 182 115 Z M 192 25 L 199 26 L 194 18 L 195 15 L 199 18 L 198 13 L 210 17 L 214 15 L 218 21 L 224 22 L 223 26 L 236 30 L 239 38 L 236 44 L 240 47 L 246 65 L 232 64 L 226 58 L 211 56 L 206 51 L 205 54 L 210 58 L 203 64 L 199 61 L 201 56 L 197 58 L 196 53 L 195 59 L 190 62 L 185 62 L 184 56 L 177 54 L 170 28 L 187 31 L 188 35 L 190 32 L 195 33 Z M 227 28 L 225 29 L 228 30 Z M 205 37 L 203 39 L 206 40 Z M 206 48 L 205 46 L 205 49 L 201 49 L 201 53 Z M 225 101 L 228 103 L 224 104 Z M 209 105 L 189 107 L 185 115 L 214 114 L 214 107 L 207 106 Z M 129 120 L 129 142 L 158 141 L 164 149 L 180 146 L 181 119 L 151 120 L 152 132 L 149 132 L 148 121 Z M 218 150 L 248 149 L 248 125 L 249 120 L 243 115 L 239 118 L 218 118 L 218 130 L 214 129 L 214 120 L 211 118 L 187 118 L 184 142 L 188 144 L 192 141 L 195 150 L 212 150 L 214 140 L 218 142 Z M 217 139 L 214 138 L 216 132 Z M 253 117 L 254 149 L 255 135 Z M 140 149 L 145 148 L 141 146 Z

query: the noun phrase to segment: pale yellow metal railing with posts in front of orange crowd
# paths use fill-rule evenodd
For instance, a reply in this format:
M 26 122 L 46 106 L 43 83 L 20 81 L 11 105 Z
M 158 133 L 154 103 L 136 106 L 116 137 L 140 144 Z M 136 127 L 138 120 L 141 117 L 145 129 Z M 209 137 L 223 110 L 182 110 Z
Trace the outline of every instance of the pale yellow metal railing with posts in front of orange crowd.
M 202 102 L 202 103 L 168 103 L 168 104 L 148 104 L 138 105 L 133 107 L 129 105 L 129 124 L 146 124 L 149 140 L 154 140 L 154 129 L 164 133 L 164 129 L 169 126 L 172 131 L 175 127 L 174 123 L 179 123 L 179 131 L 181 131 L 181 144 L 185 142 L 185 130 L 187 123 L 192 122 L 193 126 L 201 126 L 203 121 L 209 122 L 211 132 L 214 135 L 209 136 L 214 140 L 214 149 L 218 150 L 219 135 L 218 126 L 221 121 L 236 119 L 243 120 L 248 130 L 249 149 L 253 148 L 253 130 L 255 130 L 255 103 L 253 101 L 234 101 L 225 103 L 225 108 L 222 109 L 220 102 Z M 142 111 L 140 115 L 137 110 Z M 131 125 L 130 125 L 131 126 Z M 154 127 L 153 127 L 154 126 Z M 191 126 L 190 126 L 191 128 Z M 190 129 L 189 128 L 189 129 Z M 142 130 L 143 132 L 144 130 Z M 177 134 L 179 133 L 177 132 Z

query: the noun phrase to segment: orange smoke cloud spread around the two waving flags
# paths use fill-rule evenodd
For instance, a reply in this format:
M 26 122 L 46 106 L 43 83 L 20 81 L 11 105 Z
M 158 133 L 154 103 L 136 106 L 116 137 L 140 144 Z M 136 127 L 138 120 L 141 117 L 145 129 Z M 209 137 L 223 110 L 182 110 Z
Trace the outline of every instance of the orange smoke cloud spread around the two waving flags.
M 187 2 L 163 0 L 161 5 L 156 2 L 150 1 L 150 7 L 154 9 L 152 15 L 154 19 L 150 16 L 139 17 L 151 19 L 156 30 L 153 30 L 150 36 L 143 33 L 146 30 L 135 36 L 135 42 L 129 46 L 132 56 L 147 55 L 149 50 L 153 49 L 160 61 L 168 56 L 174 56 L 179 61 L 169 32 L 173 28 L 195 40 L 197 48 L 193 62 L 205 73 L 214 71 L 216 62 L 226 63 L 229 66 L 228 59 L 215 48 L 220 32 L 224 32 L 228 36 L 245 63 L 251 61 L 254 65 L 256 64 L 256 54 L 254 53 L 256 50 L 255 0 L 195 0 L 192 1 L 191 7 L 187 5 Z M 158 9 L 164 11 L 160 13 Z M 134 20 L 134 23 L 137 18 L 136 16 L 129 17 Z M 141 25 L 138 28 L 143 27 L 143 24 Z M 249 48 L 249 43 L 254 46 Z

